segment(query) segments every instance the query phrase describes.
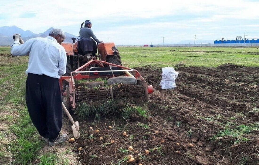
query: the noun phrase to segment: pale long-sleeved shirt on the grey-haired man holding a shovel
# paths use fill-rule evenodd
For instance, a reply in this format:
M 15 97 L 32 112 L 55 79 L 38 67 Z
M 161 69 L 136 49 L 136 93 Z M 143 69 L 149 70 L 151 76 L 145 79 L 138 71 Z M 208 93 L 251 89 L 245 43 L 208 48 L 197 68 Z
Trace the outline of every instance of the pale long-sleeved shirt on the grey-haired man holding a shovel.
M 60 78 L 61 75 L 66 73 L 66 51 L 53 37 L 31 38 L 24 44 L 15 41 L 11 47 L 13 56 L 29 54 L 26 74 L 45 74 L 49 77 Z

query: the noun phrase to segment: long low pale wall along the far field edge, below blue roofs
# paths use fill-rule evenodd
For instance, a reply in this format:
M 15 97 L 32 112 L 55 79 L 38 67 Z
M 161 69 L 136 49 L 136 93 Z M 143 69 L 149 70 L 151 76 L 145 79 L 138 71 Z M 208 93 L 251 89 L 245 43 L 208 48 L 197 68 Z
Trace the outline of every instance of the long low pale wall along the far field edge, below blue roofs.
M 150 45 L 148 45 L 150 47 Z M 259 43 L 243 44 L 170 44 L 170 45 L 153 45 L 153 47 L 259 47 Z

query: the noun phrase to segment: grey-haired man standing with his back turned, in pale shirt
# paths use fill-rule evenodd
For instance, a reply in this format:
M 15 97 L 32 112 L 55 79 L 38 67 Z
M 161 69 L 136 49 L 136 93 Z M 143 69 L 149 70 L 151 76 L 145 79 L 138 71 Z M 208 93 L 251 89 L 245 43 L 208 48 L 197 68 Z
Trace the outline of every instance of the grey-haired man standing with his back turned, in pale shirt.
M 48 37 L 32 38 L 25 43 L 19 34 L 14 34 L 11 45 L 13 56 L 29 54 L 25 71 L 26 105 L 34 126 L 42 139 L 54 146 L 65 142 L 67 134 L 60 135 L 62 127 L 62 98 L 59 78 L 66 73 L 67 55 L 61 46 L 65 34 L 61 29 L 52 29 Z

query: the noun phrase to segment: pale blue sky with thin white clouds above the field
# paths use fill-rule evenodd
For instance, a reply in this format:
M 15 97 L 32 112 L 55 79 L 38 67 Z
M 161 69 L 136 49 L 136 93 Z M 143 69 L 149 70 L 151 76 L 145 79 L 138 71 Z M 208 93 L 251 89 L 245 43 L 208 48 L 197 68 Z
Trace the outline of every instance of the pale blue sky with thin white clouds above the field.
M 259 38 L 259 0 L 0 0 L 0 26 L 75 36 L 89 19 L 99 40 L 116 45 Z

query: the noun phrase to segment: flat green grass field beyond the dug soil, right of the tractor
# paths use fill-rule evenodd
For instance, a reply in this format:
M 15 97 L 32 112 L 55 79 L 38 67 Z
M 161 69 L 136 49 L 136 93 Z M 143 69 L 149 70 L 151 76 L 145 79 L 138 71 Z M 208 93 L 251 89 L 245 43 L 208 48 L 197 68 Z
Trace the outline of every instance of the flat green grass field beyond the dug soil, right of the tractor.
M 225 63 L 258 66 L 259 49 L 254 47 L 119 47 L 121 59 L 130 67 L 155 65 L 216 67 Z

